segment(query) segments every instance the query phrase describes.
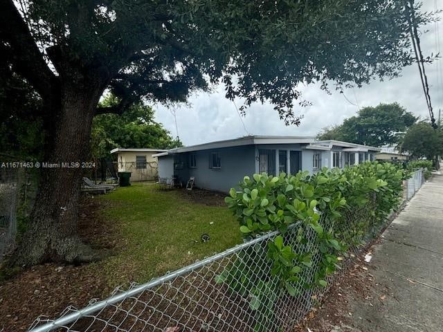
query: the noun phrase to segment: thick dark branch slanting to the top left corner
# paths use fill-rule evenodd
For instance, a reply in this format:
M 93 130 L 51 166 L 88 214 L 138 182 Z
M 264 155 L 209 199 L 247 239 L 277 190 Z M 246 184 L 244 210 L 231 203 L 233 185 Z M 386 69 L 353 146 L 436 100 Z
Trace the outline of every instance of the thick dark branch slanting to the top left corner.
M 12 0 L 0 0 L 0 39 L 11 50 L 10 60 L 20 75 L 34 86 L 44 99 L 51 98 L 57 77 L 44 61 Z

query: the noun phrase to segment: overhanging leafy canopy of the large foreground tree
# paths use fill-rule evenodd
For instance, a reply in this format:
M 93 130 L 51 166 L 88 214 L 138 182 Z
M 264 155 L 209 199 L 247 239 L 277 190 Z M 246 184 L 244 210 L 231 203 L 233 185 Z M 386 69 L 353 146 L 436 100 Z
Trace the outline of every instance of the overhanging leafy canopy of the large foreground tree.
M 206 76 L 221 78 L 228 98 L 268 100 L 298 123 L 293 100 L 308 104 L 299 82 L 361 86 L 412 62 L 400 0 L 25 2 L 57 71 L 64 61 L 82 73 L 100 68 L 125 103 L 185 101 L 208 89 Z M 416 12 L 417 24 L 430 19 Z

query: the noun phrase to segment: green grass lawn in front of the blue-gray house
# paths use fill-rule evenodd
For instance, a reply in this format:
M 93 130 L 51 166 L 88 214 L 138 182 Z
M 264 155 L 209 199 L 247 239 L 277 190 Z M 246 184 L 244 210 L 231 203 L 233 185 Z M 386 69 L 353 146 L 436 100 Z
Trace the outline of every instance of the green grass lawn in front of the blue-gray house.
M 225 206 L 196 203 L 180 190 L 134 183 L 96 199 L 124 239 L 123 249 L 91 268 L 105 273 L 109 288 L 147 282 L 241 243 L 239 225 Z M 201 241 L 202 234 L 210 240 Z M 196 242 L 197 241 L 197 242 Z

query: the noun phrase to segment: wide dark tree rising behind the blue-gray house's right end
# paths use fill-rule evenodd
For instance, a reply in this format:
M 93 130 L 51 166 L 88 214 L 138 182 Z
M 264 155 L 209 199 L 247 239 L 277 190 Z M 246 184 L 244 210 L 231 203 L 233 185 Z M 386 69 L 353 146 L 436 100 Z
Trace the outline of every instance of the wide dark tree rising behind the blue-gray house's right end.
M 379 104 L 376 107 L 363 107 L 356 116 L 347 118 L 335 127 L 324 129 L 319 134 L 321 140 L 344 140 L 356 144 L 380 147 L 397 144 L 401 134 L 417 118 L 397 102 Z

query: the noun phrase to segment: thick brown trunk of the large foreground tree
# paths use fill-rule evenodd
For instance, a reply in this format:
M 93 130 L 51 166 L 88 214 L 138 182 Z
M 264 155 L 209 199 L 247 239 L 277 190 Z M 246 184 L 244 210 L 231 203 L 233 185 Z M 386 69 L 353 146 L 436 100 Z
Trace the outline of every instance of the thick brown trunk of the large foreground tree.
M 31 266 L 44 261 L 93 259 L 93 252 L 80 241 L 77 230 L 84 169 L 62 167 L 62 163 L 88 161 L 91 122 L 102 84 L 72 84 L 61 89 L 61 110 L 57 119 L 53 119 L 55 133 L 46 160 L 55 165 L 60 163 L 60 167 L 41 169 L 30 225 L 19 243 L 15 264 Z

